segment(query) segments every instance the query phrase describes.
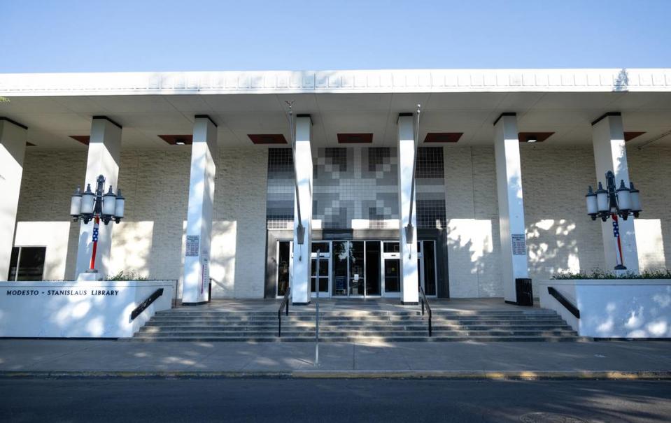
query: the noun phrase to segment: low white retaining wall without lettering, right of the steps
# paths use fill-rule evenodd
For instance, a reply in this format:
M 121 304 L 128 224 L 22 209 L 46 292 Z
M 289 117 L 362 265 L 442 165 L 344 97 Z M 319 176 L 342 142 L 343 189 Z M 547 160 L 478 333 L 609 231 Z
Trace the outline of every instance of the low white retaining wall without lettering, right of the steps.
M 556 310 L 580 336 L 671 338 L 671 280 L 541 280 L 540 306 Z M 548 292 L 555 288 L 580 310 L 575 317 Z

